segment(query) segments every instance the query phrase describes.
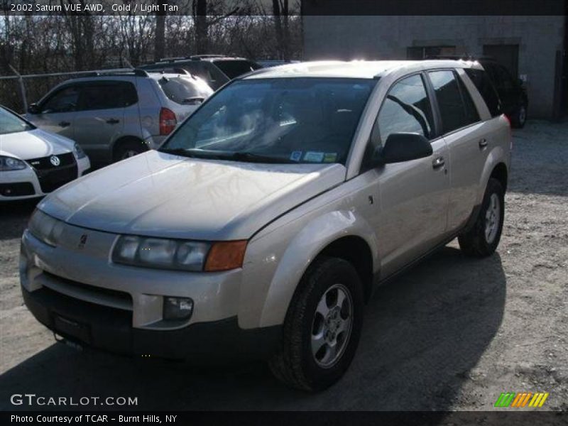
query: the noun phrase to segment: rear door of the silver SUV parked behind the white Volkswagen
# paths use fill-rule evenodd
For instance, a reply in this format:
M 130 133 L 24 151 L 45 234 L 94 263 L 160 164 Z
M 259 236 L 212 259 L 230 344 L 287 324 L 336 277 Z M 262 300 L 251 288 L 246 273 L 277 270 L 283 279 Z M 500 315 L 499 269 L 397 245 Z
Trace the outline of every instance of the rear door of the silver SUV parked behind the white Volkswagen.
M 122 83 L 102 80 L 82 84 L 75 115 L 75 141 L 94 160 L 109 160 L 112 143 L 123 134 Z

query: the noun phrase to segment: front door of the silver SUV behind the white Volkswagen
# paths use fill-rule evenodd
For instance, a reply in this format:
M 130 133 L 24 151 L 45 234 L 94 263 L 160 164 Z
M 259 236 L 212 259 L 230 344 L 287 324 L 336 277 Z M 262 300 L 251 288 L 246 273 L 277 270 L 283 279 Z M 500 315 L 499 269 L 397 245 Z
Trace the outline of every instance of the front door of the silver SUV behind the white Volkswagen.
M 38 114 L 28 113 L 26 118 L 40 129 L 74 138 L 78 102 L 79 87 L 67 84 L 42 99 L 38 104 Z

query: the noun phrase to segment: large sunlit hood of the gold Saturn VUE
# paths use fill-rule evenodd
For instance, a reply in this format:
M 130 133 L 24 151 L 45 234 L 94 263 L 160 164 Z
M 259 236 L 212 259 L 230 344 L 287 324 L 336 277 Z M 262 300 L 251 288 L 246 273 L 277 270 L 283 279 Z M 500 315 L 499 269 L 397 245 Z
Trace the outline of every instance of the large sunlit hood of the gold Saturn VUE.
M 258 164 L 148 151 L 53 192 L 53 217 L 116 234 L 249 239 L 298 204 L 339 185 L 340 164 Z

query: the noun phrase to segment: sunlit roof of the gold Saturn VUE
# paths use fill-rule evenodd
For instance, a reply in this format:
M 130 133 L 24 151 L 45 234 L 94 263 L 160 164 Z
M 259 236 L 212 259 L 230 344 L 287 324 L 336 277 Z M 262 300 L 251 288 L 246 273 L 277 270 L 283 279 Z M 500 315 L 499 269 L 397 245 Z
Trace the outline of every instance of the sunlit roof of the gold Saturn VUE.
M 280 77 L 344 77 L 376 78 L 405 69 L 408 72 L 431 68 L 469 68 L 479 67 L 478 62 L 464 60 L 352 60 L 352 61 L 314 61 L 300 62 L 278 67 L 262 68 L 244 78 Z

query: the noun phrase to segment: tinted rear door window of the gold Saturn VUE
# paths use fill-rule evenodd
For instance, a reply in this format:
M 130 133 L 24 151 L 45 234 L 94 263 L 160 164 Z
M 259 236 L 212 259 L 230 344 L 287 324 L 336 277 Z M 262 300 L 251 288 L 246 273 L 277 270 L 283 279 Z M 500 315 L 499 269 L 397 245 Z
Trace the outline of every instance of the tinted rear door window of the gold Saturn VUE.
M 432 86 L 436 93 L 439 114 L 442 119 L 442 133 L 449 133 L 468 124 L 478 121 L 472 116 L 474 105 L 468 108 L 462 97 L 459 80 L 454 71 L 431 71 L 428 72 Z M 471 98 L 469 99 L 471 102 Z

